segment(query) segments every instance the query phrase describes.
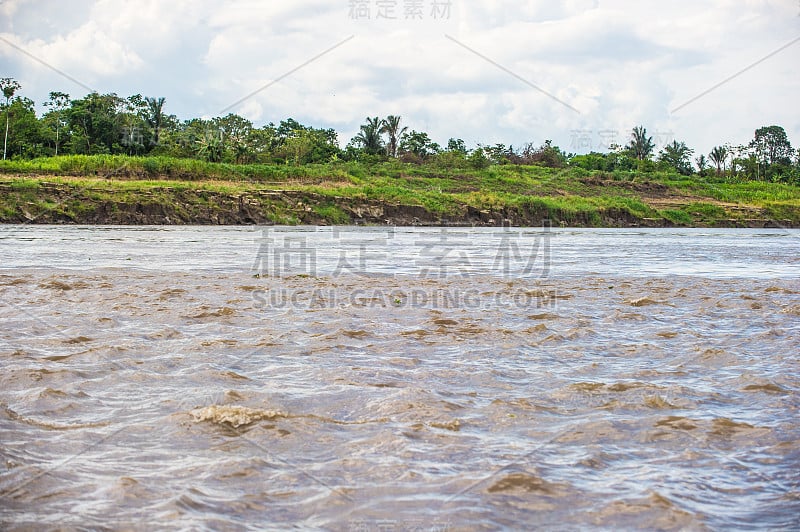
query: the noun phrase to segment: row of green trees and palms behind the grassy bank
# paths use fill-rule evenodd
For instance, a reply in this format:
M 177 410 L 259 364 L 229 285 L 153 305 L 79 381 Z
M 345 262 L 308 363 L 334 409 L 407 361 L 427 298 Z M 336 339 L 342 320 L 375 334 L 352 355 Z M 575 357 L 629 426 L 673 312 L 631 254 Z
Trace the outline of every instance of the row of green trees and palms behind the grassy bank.
M 311 164 L 335 160 L 379 161 L 396 158 L 422 164 L 493 164 L 574 166 L 602 171 L 672 171 L 683 175 L 730 176 L 740 179 L 800 184 L 800 150 L 792 148 L 780 126 L 755 131 L 745 145 L 723 144 L 708 154 L 695 154 L 677 140 L 656 153 L 653 138 L 643 126 L 631 131 L 625 145 L 608 152 L 568 154 L 551 141 L 519 147 L 505 144 L 468 148 L 462 139 L 445 146 L 427 133 L 409 130 L 398 115 L 367 117 L 359 132 L 341 148 L 333 129 L 303 125 L 292 118 L 256 127 L 246 118 L 228 114 L 211 119 L 179 120 L 165 110 L 163 97 L 127 98 L 92 92 L 72 99 L 51 92 L 46 111 L 37 116 L 33 100 L 19 95 L 20 84 L 0 79 L 5 98 L 3 158 L 35 158 L 60 154 L 162 155 L 210 162 Z

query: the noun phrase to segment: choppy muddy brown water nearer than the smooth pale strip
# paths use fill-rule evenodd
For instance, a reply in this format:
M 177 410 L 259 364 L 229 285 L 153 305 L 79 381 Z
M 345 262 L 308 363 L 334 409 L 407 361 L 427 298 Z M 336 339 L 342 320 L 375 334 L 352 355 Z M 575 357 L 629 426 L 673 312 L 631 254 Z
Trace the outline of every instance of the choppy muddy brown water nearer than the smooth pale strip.
M 551 279 L 572 298 L 312 309 L 231 298 L 375 281 L 104 270 L 63 272 L 86 288 L 50 291 L 52 271 L 11 277 L 27 281 L 2 296 L 27 314 L 6 309 L 0 331 L 0 491 L 32 480 L 3 495 L 15 513 L 0 522 L 83 526 L 79 507 L 187 529 L 421 515 L 453 529 L 780 529 L 796 516 L 795 325 L 768 308 L 797 304 L 793 280 Z M 629 319 L 630 301 L 669 294 L 681 305 Z M 755 499 L 765 513 L 731 510 Z

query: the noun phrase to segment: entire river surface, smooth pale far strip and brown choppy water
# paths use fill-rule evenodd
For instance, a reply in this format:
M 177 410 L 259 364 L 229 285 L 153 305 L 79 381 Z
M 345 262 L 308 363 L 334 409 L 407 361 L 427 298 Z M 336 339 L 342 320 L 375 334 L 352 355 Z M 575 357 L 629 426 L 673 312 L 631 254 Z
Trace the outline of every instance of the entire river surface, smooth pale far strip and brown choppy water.
M 0 227 L 0 527 L 800 528 L 800 232 Z

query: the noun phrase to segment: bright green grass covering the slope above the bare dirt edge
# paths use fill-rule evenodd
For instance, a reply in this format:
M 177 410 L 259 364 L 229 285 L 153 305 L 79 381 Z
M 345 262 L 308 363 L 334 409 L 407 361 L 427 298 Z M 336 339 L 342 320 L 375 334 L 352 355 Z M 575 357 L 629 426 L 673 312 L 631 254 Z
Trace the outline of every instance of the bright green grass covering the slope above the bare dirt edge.
M 71 190 L 70 202 L 59 205 L 59 198 L 48 197 L 47 183 Z M 4 221 L 20 219 L 23 207 L 31 213 L 59 205 L 68 219 L 80 219 L 92 203 L 169 205 L 202 203 L 204 193 L 292 191 L 317 198 L 311 208 L 327 223 L 346 223 L 341 204 L 361 201 L 421 206 L 442 218 L 458 218 L 471 208 L 493 213 L 535 210 L 566 224 L 596 226 L 608 225 L 615 216 L 685 226 L 746 224 L 753 219 L 800 225 L 796 186 L 579 168 L 505 165 L 478 170 L 399 161 L 232 165 L 167 157 L 72 155 L 2 161 L 0 184 Z M 302 221 L 290 213 L 291 205 L 273 208 L 289 213 L 272 213 L 273 221 Z

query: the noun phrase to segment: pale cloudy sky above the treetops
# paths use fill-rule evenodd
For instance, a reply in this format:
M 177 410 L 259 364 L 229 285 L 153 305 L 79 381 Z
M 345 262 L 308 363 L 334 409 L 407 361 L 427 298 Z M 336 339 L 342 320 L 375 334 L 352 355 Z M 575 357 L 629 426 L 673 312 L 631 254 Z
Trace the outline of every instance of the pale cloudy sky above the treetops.
M 800 0 L 0 0 L 0 77 L 40 110 L 141 93 L 342 145 L 399 114 L 470 147 L 605 151 L 639 124 L 698 153 L 772 124 L 798 147 L 798 65 Z

